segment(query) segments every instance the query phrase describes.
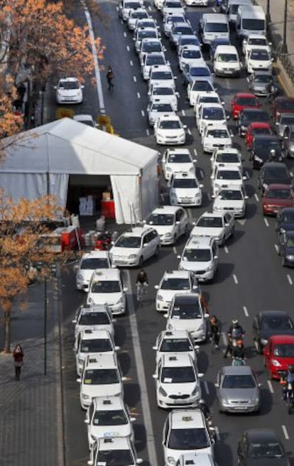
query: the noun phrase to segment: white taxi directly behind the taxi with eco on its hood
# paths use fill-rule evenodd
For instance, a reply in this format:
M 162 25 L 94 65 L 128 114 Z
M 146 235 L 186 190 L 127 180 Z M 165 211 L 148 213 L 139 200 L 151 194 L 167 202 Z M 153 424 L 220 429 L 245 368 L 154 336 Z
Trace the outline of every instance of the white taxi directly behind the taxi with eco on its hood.
M 121 369 L 115 353 L 89 354 L 84 362 L 80 383 L 80 403 L 87 409 L 95 396 L 124 395 Z

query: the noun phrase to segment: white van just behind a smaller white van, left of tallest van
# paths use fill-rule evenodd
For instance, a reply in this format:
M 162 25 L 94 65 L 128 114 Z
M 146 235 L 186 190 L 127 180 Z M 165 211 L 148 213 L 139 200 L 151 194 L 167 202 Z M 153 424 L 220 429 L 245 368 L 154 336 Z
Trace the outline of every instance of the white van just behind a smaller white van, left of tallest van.
M 205 45 L 211 45 L 215 38 L 229 40 L 227 16 L 222 13 L 204 13 L 200 19 L 200 36 Z

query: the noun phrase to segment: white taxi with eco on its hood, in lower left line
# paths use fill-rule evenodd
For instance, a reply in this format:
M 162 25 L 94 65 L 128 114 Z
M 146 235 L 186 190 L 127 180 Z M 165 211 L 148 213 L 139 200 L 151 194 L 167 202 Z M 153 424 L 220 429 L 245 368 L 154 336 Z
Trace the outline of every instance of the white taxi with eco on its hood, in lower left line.
M 98 438 L 129 437 L 134 441 L 134 421 L 136 418 L 131 418 L 122 396 L 93 398 L 85 418 L 89 450 Z

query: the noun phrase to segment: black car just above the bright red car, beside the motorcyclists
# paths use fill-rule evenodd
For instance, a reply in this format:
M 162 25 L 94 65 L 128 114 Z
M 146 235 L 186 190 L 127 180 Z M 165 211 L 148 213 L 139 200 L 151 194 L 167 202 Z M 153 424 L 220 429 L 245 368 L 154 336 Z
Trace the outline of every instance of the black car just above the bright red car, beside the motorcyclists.
M 284 310 L 263 310 L 254 318 L 252 333 L 254 346 L 262 353 L 271 335 L 294 335 L 294 324 Z

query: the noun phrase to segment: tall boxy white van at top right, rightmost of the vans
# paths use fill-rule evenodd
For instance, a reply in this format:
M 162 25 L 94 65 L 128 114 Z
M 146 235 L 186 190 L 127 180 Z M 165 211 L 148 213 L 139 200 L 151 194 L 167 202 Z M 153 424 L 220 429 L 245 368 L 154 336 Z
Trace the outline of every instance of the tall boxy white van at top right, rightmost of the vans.
M 240 40 L 250 34 L 263 34 L 266 36 L 266 15 L 261 6 L 238 7 L 236 34 Z

